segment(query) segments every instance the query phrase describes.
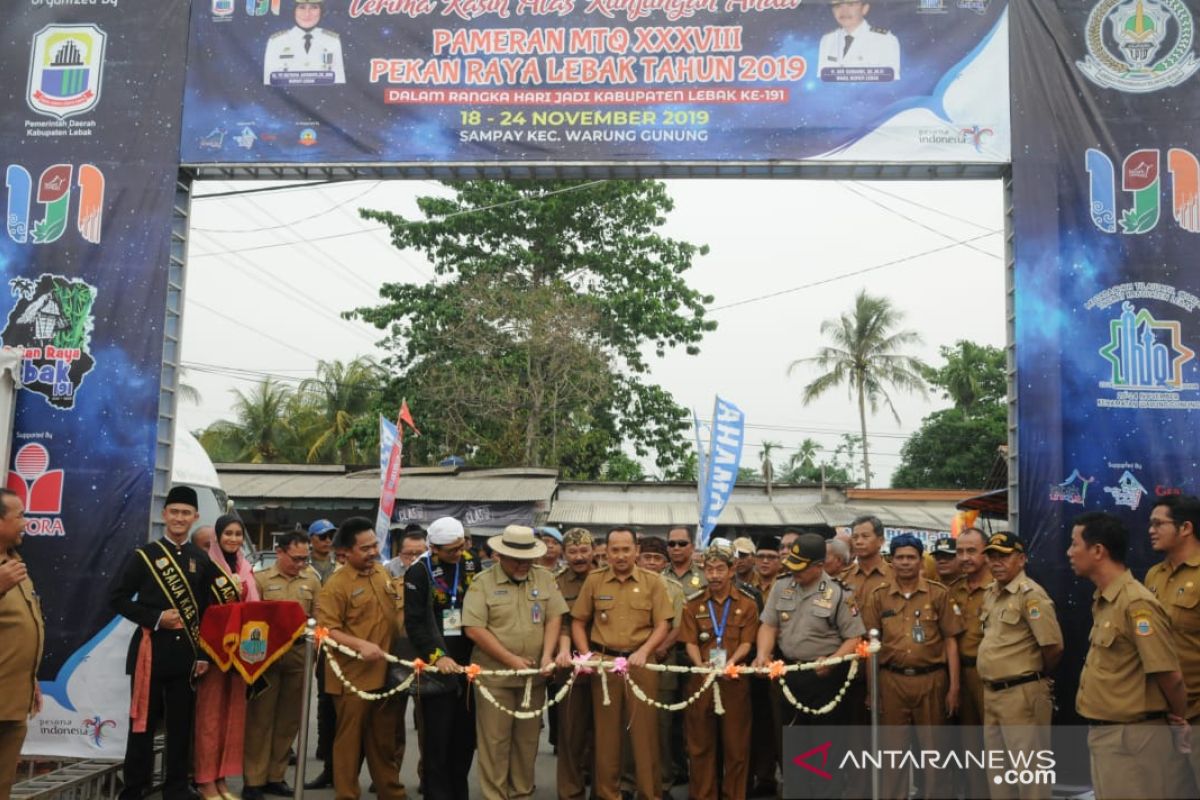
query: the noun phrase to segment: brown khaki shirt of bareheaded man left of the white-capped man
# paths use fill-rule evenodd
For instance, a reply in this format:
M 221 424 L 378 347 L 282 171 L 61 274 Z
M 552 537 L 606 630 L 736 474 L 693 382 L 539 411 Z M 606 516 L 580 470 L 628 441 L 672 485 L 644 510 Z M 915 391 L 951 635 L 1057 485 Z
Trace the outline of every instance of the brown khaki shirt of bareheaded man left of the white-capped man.
M 400 631 L 397 620 L 403 613 L 404 596 L 382 564 L 372 566 L 370 575 L 359 575 L 346 567 L 335 571 L 317 597 L 317 622 L 330 631 L 341 631 L 391 651 L 392 639 Z M 358 688 L 373 692 L 388 678 L 388 662 L 383 658 L 366 662 L 341 654 L 337 658 L 342 674 Z M 334 668 L 325 666 L 325 691 L 342 693 L 342 681 Z

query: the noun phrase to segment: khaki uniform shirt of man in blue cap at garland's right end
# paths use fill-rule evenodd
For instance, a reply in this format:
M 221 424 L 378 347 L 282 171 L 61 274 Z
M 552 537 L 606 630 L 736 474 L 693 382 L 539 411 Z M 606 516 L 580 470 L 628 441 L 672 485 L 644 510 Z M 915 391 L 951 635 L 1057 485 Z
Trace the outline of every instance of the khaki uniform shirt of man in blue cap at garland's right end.
M 880 630 L 880 663 L 895 667 L 932 667 L 946 663 L 946 640 L 962 632 L 962 618 L 944 585 L 917 579 L 905 597 L 895 583 L 875 588 L 863 606 L 863 621 Z M 914 636 L 920 626 L 922 638 Z

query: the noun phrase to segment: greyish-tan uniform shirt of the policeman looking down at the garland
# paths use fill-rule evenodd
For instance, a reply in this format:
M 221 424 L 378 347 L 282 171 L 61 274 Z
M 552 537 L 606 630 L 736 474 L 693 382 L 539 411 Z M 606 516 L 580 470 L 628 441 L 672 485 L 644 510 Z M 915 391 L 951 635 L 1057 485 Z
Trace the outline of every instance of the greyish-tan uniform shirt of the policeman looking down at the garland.
M 834 578 L 806 589 L 791 577 L 776 581 L 761 619 L 779 628 L 775 642 L 792 661 L 832 656 L 846 639 L 866 634 L 853 595 Z

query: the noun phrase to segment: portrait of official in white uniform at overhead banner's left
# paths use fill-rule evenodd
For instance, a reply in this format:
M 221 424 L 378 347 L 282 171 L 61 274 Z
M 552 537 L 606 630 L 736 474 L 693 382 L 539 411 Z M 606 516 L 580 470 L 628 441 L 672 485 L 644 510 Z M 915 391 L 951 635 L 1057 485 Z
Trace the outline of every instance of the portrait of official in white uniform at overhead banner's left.
M 263 83 L 320 86 L 346 83 L 342 40 L 320 26 L 324 0 L 296 0 L 295 25 L 266 40 Z

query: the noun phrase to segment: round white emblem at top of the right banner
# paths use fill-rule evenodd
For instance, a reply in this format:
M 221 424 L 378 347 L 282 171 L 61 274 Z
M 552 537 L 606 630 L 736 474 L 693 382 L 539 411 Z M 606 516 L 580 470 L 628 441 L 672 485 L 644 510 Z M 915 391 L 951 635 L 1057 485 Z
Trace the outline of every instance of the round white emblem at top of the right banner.
M 1076 66 L 1105 89 L 1145 94 L 1178 86 L 1200 61 L 1183 0 L 1100 0 L 1087 18 L 1087 56 Z

